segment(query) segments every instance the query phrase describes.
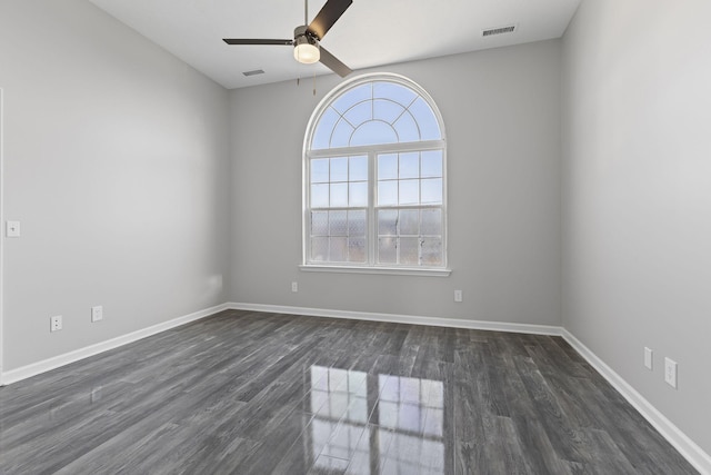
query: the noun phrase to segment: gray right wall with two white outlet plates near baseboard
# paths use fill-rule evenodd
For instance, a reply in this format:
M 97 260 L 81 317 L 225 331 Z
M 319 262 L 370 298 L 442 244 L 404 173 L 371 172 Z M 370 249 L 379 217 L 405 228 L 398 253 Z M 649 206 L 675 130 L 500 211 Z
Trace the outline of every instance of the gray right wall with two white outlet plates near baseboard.
M 707 453 L 709 18 L 708 0 L 583 1 L 564 36 L 562 100 L 563 325 Z

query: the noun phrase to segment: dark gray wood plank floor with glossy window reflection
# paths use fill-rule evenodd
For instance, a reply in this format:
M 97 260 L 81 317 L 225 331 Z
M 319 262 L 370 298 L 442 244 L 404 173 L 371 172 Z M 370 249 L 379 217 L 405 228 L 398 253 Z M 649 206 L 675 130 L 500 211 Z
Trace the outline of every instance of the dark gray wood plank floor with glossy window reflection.
M 224 311 L 0 388 L 2 474 L 692 474 L 559 337 Z

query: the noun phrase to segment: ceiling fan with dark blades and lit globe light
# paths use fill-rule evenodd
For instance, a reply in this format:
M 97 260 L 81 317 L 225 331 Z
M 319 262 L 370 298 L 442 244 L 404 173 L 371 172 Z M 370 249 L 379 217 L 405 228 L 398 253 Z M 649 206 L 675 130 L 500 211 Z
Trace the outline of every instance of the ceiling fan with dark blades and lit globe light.
M 344 78 L 352 70 L 323 48 L 320 42 L 351 3 L 353 0 L 328 0 L 319 14 L 309 23 L 309 0 L 304 0 L 304 23 L 308 26 L 297 27 L 291 40 L 224 38 L 223 41 L 228 44 L 293 46 L 293 57 L 297 61 L 304 65 L 321 61 L 322 65 Z

